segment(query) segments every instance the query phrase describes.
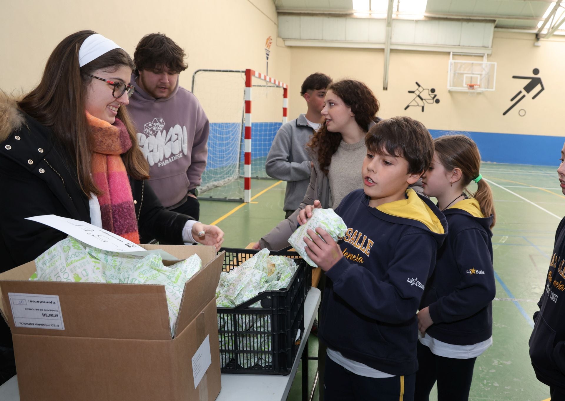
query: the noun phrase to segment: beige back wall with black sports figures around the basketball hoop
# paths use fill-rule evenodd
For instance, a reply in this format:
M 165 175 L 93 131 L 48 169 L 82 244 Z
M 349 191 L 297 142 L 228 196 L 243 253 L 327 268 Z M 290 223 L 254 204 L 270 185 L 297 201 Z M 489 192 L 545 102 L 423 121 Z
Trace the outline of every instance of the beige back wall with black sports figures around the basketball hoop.
M 407 115 L 422 121 L 429 129 L 465 130 L 475 132 L 514 133 L 563 136 L 562 113 L 563 65 L 565 37 L 553 36 L 533 46 L 534 35 L 495 32 L 489 62 L 497 63 L 496 90 L 470 97 L 467 93 L 447 91 L 449 53 L 398 51 L 390 53 L 388 90 L 383 91 L 382 49 L 340 49 L 333 47 L 292 47 L 290 74 L 289 119 L 305 112 L 300 97 L 300 85 L 310 73 L 320 71 L 334 80 L 349 77 L 366 82 L 381 102 L 379 116 Z M 513 75 L 533 76 L 538 68 L 545 90 L 533 101 L 537 89 L 527 95 L 509 114 L 502 113 L 510 99 L 527 84 L 512 79 Z M 418 81 L 424 88 L 435 88 L 438 104 L 419 107 L 405 106 L 414 98 Z M 525 116 L 518 115 L 524 109 Z

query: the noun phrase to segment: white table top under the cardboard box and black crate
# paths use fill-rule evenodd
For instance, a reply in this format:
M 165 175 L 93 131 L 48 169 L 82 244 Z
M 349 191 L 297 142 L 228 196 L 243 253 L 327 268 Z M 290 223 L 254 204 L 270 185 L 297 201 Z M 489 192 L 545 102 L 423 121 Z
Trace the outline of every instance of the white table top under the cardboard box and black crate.
M 320 306 L 320 299 L 320 290 L 311 287 L 304 303 L 304 328 L 306 333 L 302 336 L 302 339 L 307 339 L 310 334 L 316 311 Z M 216 400 L 286 400 L 305 346 L 306 341 L 302 341 L 294 360 L 292 372 L 287 376 L 277 374 L 222 374 L 221 391 Z M 0 400 L 20 401 L 17 376 L 12 377 L 0 386 Z

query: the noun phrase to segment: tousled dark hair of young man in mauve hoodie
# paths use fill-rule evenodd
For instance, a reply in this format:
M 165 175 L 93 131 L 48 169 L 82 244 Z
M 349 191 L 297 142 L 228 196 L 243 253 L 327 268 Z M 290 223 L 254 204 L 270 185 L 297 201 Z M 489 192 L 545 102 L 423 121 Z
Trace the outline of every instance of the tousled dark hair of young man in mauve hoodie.
M 167 66 L 170 71 L 182 72 L 188 68 L 184 62 L 184 50 L 164 33 L 149 33 L 137 43 L 133 53 L 133 62 L 136 64 L 134 73 L 147 69 Z

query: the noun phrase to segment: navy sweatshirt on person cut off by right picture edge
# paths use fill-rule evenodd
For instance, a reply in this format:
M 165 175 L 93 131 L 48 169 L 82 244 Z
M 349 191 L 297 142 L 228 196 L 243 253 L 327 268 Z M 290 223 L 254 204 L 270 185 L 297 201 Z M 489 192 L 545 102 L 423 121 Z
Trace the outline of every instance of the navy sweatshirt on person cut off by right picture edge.
M 565 217 L 555 233 L 553 255 L 544 292 L 533 314 L 536 323 L 529 339 L 529 354 L 536 377 L 548 386 L 565 389 Z

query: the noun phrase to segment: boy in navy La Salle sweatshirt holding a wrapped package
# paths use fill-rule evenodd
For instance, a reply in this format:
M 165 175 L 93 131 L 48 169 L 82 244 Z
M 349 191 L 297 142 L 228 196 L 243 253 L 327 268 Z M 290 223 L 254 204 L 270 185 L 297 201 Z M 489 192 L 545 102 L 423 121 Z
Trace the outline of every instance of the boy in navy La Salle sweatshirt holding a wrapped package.
M 363 190 L 336 213 L 338 245 L 323 229 L 305 237 L 328 282 L 319 337 L 327 347 L 325 400 L 412 400 L 418 370 L 416 311 L 444 241 L 444 215 L 407 189 L 428 168 L 433 141 L 409 117 L 382 120 L 366 137 Z M 319 205 L 319 202 L 316 202 Z

